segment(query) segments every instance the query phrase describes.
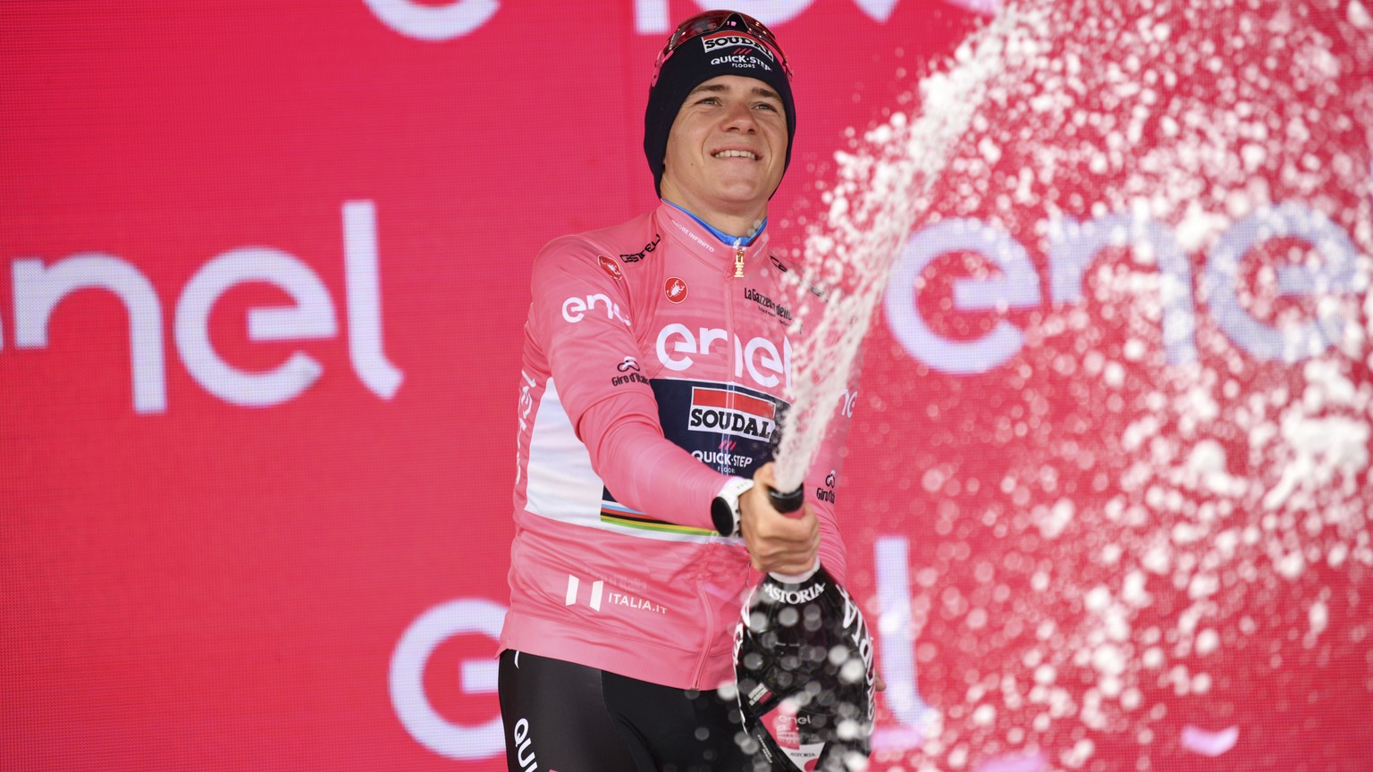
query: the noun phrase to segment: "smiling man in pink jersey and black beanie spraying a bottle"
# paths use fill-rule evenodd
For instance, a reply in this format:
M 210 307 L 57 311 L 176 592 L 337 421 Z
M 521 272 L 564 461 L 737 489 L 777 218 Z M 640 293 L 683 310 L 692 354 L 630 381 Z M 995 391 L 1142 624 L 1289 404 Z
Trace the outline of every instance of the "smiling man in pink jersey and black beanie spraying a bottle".
M 768 201 L 794 107 L 766 27 L 688 19 L 644 117 L 662 203 L 535 260 L 500 659 L 512 771 L 751 769 L 717 692 L 750 569 L 844 578 L 843 426 L 799 514 L 765 495 L 792 321 Z

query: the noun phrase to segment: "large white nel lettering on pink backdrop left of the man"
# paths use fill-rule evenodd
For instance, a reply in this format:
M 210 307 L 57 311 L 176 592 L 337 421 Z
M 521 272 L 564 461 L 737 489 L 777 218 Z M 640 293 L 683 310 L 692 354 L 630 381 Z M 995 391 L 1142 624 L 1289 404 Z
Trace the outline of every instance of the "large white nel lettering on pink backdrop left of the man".
M 349 359 L 358 379 L 382 398 L 391 398 L 404 374 L 382 350 L 376 207 L 369 201 L 343 205 L 343 269 L 347 295 Z M 305 341 L 338 335 L 330 291 L 298 258 L 264 246 L 220 254 L 187 282 L 176 304 L 173 337 L 185 370 L 206 391 L 243 407 L 286 402 L 324 372 L 313 357 L 292 352 L 280 365 L 250 372 L 225 361 L 210 339 L 210 312 L 232 287 L 273 284 L 295 305 L 254 308 L 247 312 L 250 341 Z M 14 261 L 14 342 L 19 349 L 48 348 L 48 321 L 69 294 L 85 288 L 113 293 L 129 315 L 133 409 L 168 409 L 162 302 L 141 271 L 104 253 L 84 253 L 44 265 L 43 260 Z M 0 327 L 0 349 L 3 349 Z

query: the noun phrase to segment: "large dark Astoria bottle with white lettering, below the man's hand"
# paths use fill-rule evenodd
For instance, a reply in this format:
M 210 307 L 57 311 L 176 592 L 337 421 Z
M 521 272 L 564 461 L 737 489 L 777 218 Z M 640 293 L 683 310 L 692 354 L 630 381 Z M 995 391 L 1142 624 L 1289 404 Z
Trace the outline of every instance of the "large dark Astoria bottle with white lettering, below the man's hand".
M 768 574 L 735 631 L 735 680 L 755 769 L 839 772 L 868 767 L 872 637 L 858 604 L 822 566 Z M 765 717 L 781 707 L 781 743 Z

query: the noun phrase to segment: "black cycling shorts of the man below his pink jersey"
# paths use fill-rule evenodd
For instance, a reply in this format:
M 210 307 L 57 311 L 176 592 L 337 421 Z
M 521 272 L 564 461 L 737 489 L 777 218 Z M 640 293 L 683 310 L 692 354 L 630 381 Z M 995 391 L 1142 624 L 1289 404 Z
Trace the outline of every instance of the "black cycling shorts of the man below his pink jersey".
M 501 652 L 509 772 L 751 772 L 735 701 Z

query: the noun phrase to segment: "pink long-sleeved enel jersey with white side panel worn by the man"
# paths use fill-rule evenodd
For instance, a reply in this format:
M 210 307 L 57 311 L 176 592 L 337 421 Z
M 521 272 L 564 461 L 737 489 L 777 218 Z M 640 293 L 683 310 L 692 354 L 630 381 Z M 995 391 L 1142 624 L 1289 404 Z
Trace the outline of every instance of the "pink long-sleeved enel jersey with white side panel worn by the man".
M 503 648 L 680 688 L 733 679 L 759 577 L 710 503 L 772 455 L 791 374 L 785 271 L 766 231 L 733 247 L 666 203 L 538 254 Z M 832 422 L 805 484 L 839 581 L 846 429 Z

